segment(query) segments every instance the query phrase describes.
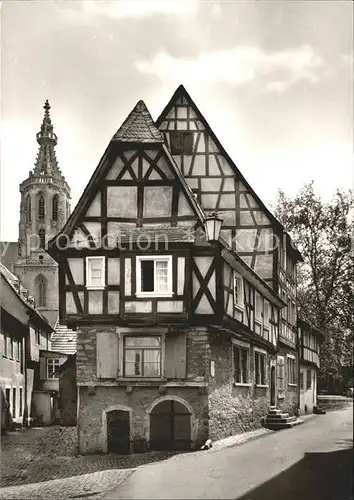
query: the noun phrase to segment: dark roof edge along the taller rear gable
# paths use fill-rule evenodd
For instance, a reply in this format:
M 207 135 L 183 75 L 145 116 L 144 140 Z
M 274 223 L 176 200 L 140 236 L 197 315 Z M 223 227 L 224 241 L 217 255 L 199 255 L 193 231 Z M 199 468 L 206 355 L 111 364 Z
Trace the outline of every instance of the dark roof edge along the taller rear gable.
M 171 108 L 174 106 L 175 102 L 179 98 L 185 98 L 185 100 L 188 102 L 188 105 L 191 106 L 191 108 L 193 109 L 193 111 L 195 112 L 195 114 L 198 116 L 198 119 L 203 123 L 203 125 L 207 129 L 210 137 L 215 142 L 216 146 L 219 148 L 220 152 L 225 156 L 226 160 L 229 162 L 229 164 L 230 164 L 231 168 L 234 170 L 235 174 L 237 174 L 237 176 L 241 179 L 241 181 L 243 182 L 243 184 L 252 193 L 252 196 L 257 201 L 257 203 L 259 204 L 259 206 L 262 207 L 262 209 L 264 210 L 264 212 L 266 213 L 266 215 L 269 217 L 269 219 L 271 220 L 271 222 L 276 226 L 276 228 L 279 231 L 285 232 L 283 225 L 272 214 L 272 212 L 270 212 L 270 210 L 265 206 L 265 204 L 263 203 L 263 201 L 259 198 L 259 196 L 257 195 L 257 193 L 252 189 L 252 187 L 250 186 L 250 184 L 247 182 L 247 180 L 245 179 L 245 177 L 242 175 L 242 173 L 238 169 L 237 165 L 234 163 L 234 161 L 232 160 L 232 158 L 229 156 L 229 154 L 227 153 L 226 149 L 223 147 L 223 145 L 221 144 L 221 142 L 219 141 L 219 139 L 215 135 L 213 129 L 210 127 L 209 123 L 205 119 L 204 115 L 201 113 L 200 109 L 195 104 L 195 102 L 193 101 L 193 99 L 191 98 L 191 96 L 189 95 L 189 93 L 187 92 L 187 90 L 185 89 L 185 87 L 183 85 L 180 85 L 175 90 L 175 92 L 173 93 L 171 99 L 169 100 L 169 102 L 167 103 L 167 105 L 165 106 L 165 108 L 163 109 L 163 111 L 161 112 L 160 116 L 157 118 L 157 120 L 155 122 L 156 126 L 159 127 L 161 125 L 161 123 L 166 118 L 166 116 L 168 115 L 168 113 L 171 111 Z M 289 238 L 290 238 L 290 236 L 289 236 Z M 294 251 L 294 253 L 296 255 L 296 258 L 299 261 L 302 261 L 303 259 L 302 259 L 302 256 L 301 256 L 300 252 L 294 247 L 293 244 L 292 244 L 292 249 L 293 249 L 293 251 Z

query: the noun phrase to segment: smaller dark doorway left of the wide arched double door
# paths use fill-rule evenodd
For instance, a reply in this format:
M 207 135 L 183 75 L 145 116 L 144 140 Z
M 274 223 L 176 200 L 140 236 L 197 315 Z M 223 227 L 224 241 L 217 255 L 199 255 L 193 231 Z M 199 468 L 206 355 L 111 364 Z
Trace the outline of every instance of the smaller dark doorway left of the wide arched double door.
M 108 453 L 130 453 L 129 411 L 107 412 L 107 451 Z

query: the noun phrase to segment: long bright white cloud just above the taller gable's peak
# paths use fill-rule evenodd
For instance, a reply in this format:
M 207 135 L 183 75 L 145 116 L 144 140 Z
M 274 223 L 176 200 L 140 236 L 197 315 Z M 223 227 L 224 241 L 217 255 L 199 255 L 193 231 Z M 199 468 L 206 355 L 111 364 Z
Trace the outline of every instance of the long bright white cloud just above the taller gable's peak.
M 284 91 L 299 80 L 316 81 L 315 71 L 323 65 L 312 47 L 266 52 L 255 46 L 205 52 L 195 58 L 173 57 L 158 52 L 152 60 L 136 62 L 138 71 L 164 79 L 242 85 L 263 77 L 268 91 Z M 282 78 L 274 79 L 281 73 Z

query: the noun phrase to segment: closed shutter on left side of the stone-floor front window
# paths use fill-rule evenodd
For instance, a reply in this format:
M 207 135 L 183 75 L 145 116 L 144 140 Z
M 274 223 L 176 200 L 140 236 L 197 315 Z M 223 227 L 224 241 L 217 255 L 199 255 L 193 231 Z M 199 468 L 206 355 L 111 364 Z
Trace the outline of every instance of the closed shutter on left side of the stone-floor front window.
M 97 332 L 97 378 L 117 378 L 118 342 L 115 332 Z

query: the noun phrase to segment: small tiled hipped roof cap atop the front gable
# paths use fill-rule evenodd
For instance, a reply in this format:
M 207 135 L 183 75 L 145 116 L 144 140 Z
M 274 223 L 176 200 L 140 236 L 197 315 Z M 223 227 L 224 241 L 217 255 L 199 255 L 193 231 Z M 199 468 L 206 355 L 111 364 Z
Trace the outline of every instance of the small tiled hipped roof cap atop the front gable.
M 144 101 L 139 101 L 114 134 L 112 141 L 162 143 L 164 139 Z

